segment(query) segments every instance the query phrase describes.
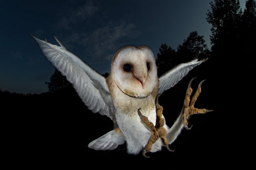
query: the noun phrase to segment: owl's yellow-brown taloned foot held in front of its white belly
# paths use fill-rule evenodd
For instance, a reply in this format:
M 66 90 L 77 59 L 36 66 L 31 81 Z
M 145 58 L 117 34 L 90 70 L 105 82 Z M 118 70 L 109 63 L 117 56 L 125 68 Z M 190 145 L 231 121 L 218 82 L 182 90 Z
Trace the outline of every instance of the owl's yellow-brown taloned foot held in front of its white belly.
M 162 118 L 162 111 L 163 111 L 163 107 L 161 105 L 158 104 L 158 97 L 160 96 L 160 94 L 157 95 L 157 97 L 155 98 L 155 106 L 156 106 L 156 124 L 154 126 L 153 123 L 151 123 L 146 116 L 143 116 L 140 112 L 140 109 L 138 109 L 138 114 L 139 117 L 141 119 L 141 121 L 143 123 L 145 123 L 147 125 L 147 127 L 151 130 L 151 137 L 149 138 L 147 145 L 145 146 L 145 148 L 143 149 L 142 155 L 146 158 L 149 158 L 149 156 L 146 156 L 146 152 L 151 151 L 151 147 L 152 145 L 159 139 L 161 138 L 162 143 L 166 146 L 167 150 L 170 152 L 173 152 L 174 150 L 171 150 L 168 147 L 169 142 L 166 139 L 166 134 L 167 131 L 166 129 L 163 127 L 165 124 L 165 119 Z

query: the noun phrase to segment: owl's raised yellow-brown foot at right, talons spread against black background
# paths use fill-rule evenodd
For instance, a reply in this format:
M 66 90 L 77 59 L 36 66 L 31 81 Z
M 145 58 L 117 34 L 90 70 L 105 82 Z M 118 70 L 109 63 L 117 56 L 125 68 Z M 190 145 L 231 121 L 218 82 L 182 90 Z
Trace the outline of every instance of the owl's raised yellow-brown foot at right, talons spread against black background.
M 187 92 L 186 92 L 186 97 L 185 97 L 185 100 L 184 100 L 184 106 L 183 106 L 183 109 L 181 111 L 181 114 L 183 115 L 183 126 L 185 127 L 185 129 L 187 130 L 190 130 L 191 127 L 188 127 L 188 116 L 190 115 L 193 115 L 193 114 L 203 114 L 203 113 L 206 113 L 206 112 L 211 112 L 213 110 L 207 110 L 207 109 L 197 109 L 194 107 L 195 105 L 195 102 L 196 102 L 196 99 L 198 98 L 199 94 L 201 93 L 201 86 L 202 86 L 202 83 L 205 81 L 205 80 L 202 80 L 199 85 L 198 85 L 198 88 L 196 90 L 196 93 L 194 94 L 194 96 L 192 97 L 191 101 L 190 101 L 190 96 L 192 94 L 192 88 L 191 88 L 191 83 L 192 81 L 194 80 L 195 78 L 192 78 L 189 83 L 188 83 L 188 89 L 187 89 Z

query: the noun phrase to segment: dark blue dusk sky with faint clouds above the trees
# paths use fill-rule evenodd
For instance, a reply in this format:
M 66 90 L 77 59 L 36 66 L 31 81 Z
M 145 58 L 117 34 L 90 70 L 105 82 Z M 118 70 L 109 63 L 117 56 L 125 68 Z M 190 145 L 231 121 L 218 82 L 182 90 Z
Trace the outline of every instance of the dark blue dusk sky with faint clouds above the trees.
M 0 90 L 48 91 L 54 67 L 29 33 L 69 51 L 100 73 L 110 71 L 113 54 L 125 45 L 162 43 L 176 49 L 190 32 L 203 35 L 211 0 L 0 0 Z M 245 0 L 240 0 L 244 8 Z

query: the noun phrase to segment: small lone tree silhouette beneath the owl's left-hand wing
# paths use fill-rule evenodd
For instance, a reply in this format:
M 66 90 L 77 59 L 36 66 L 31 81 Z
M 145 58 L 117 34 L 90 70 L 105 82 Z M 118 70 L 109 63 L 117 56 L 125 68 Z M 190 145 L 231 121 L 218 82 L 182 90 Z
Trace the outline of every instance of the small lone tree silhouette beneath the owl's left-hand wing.
M 48 85 L 49 92 L 56 93 L 61 90 L 72 87 L 72 84 L 68 82 L 65 76 L 63 76 L 57 69 L 55 69 L 49 82 L 45 82 Z

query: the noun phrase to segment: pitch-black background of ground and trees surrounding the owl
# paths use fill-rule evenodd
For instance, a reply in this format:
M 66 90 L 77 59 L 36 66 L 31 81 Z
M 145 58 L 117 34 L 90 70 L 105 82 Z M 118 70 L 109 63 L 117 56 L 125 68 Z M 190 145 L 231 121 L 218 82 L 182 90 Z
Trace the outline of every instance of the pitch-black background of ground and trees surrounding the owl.
M 87 110 L 75 90 L 56 73 L 52 78 L 58 77 L 56 82 L 62 82 L 62 85 L 49 79 L 49 92 L 46 93 L 0 91 L 2 161 L 10 167 L 34 167 L 35 164 L 37 167 L 73 168 L 89 165 L 116 167 L 115 161 L 121 163 L 121 167 L 135 166 L 136 163 L 144 167 L 170 165 L 169 168 L 240 164 L 241 158 L 252 152 L 250 129 L 254 111 L 253 100 L 249 97 L 254 93 L 256 4 L 254 0 L 248 0 L 245 10 L 240 12 L 236 2 L 215 0 L 211 3 L 207 13 L 207 21 L 212 25 L 210 50 L 203 46 L 205 42 L 200 41 L 203 37 L 199 35 L 188 36 L 174 52 L 170 52 L 166 44 L 159 49 L 159 72 L 165 71 L 161 70 L 165 63 L 161 61 L 173 61 L 169 66 L 172 68 L 195 56 L 209 58 L 159 99 L 167 125 L 171 126 L 181 111 L 189 80 L 197 77 L 192 83 L 193 89 L 201 80 L 207 80 L 196 107 L 214 111 L 189 119 L 192 129 L 182 130 L 169 146 L 176 149 L 175 152 L 163 148 L 160 152 L 148 153 L 151 158 L 146 159 L 141 154 L 128 155 L 125 145 L 112 151 L 89 149 L 90 141 L 112 130 L 113 124 L 106 116 Z M 182 58 L 184 54 L 188 54 L 188 58 Z

